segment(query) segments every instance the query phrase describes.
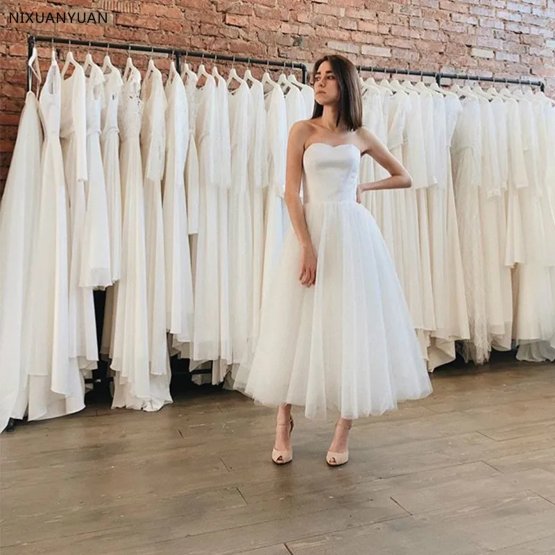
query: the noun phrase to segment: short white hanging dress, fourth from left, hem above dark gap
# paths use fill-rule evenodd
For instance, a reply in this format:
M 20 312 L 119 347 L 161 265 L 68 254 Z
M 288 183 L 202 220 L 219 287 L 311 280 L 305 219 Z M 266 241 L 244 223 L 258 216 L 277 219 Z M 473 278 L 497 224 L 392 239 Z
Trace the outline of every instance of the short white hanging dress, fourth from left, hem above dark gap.
M 102 162 L 100 134 L 104 104 L 104 74 L 94 64 L 86 78 L 87 176 L 85 195 L 87 212 L 83 230 L 80 287 L 105 289 L 112 284 L 110 266 L 110 225 L 108 200 Z

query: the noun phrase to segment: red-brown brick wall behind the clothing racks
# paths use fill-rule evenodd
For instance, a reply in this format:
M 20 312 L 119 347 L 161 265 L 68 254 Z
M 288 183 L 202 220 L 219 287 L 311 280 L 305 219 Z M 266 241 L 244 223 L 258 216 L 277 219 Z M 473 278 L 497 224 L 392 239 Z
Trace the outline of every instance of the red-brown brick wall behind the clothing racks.
M 74 0 L 69 4 L 0 0 L 0 193 L 24 102 L 30 32 L 308 63 L 333 51 L 364 65 L 538 76 L 555 94 L 555 0 Z M 108 14 L 106 24 L 79 24 L 77 17 L 65 24 L 27 22 L 28 16 L 16 24 L 9 18 L 10 12 L 39 12 L 42 17 L 43 12 L 83 16 L 99 11 Z M 74 53 L 83 61 L 83 49 Z M 46 70 L 48 47 L 39 49 L 39 56 Z M 102 57 L 103 53 L 94 53 L 97 62 Z

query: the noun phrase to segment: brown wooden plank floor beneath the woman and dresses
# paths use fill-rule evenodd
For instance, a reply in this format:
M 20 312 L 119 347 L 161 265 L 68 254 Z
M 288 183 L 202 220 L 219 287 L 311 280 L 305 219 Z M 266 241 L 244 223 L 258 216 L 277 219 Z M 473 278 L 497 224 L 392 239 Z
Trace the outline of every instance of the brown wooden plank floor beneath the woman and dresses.
M 434 395 L 360 420 L 325 465 L 330 421 L 198 391 L 158 413 L 89 407 L 1 445 L 2 555 L 553 555 L 555 365 L 433 375 Z

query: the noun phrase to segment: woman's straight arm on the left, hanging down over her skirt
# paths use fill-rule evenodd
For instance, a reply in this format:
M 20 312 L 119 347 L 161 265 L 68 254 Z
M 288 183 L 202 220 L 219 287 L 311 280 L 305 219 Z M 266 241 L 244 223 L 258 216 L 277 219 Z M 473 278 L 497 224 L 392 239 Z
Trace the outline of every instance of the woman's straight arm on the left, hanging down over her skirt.
M 305 211 L 300 201 L 302 179 L 302 155 L 310 129 L 305 121 L 294 123 L 287 142 L 287 167 L 285 171 L 285 203 L 289 210 L 291 225 L 300 243 L 302 255 L 299 280 L 310 287 L 316 282 L 316 253 L 305 219 Z

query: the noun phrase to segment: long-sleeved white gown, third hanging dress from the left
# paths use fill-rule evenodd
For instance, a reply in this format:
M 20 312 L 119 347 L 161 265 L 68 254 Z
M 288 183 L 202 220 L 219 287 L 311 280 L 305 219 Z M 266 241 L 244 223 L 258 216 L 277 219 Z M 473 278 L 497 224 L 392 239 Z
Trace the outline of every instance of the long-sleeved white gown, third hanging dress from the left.
M 69 78 L 62 78 L 60 137 L 69 198 L 69 356 L 79 368 L 92 370 L 99 359 L 92 287 L 80 287 L 87 203 L 87 100 L 83 67 L 76 64 Z

